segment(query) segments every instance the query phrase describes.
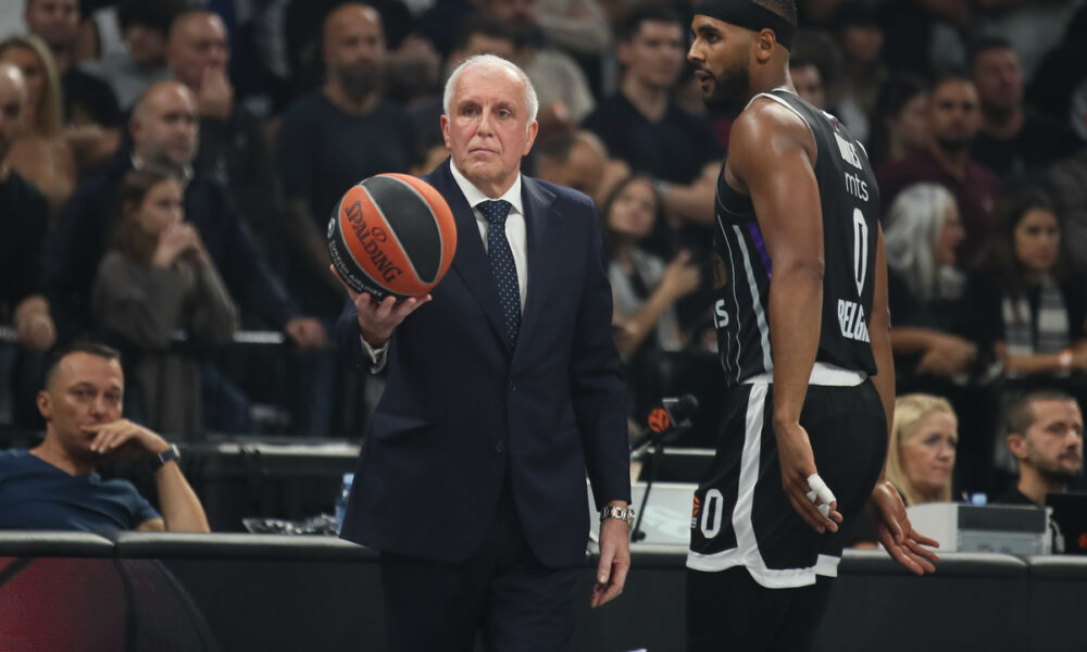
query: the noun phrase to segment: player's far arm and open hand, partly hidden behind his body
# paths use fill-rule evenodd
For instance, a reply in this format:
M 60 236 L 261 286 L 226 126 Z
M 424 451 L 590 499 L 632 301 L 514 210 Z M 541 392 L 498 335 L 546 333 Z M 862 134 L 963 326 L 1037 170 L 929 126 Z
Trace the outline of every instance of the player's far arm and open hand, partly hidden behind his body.
M 890 343 L 890 310 L 887 302 L 887 256 L 884 251 L 883 229 L 879 229 L 876 244 L 875 292 L 872 298 L 872 316 L 869 319 L 869 337 L 872 340 L 872 355 L 876 361 L 876 374 L 872 383 L 879 393 L 879 401 L 887 417 L 886 437 L 890 441 L 891 424 L 895 422 L 895 360 Z M 886 479 L 887 465 L 879 469 L 879 481 L 872 490 L 870 509 L 876 527 L 876 536 L 887 552 L 910 570 L 923 575 L 936 568 L 938 561 L 930 550 L 921 547 L 939 544 L 917 534 L 910 525 L 905 505 L 898 489 Z

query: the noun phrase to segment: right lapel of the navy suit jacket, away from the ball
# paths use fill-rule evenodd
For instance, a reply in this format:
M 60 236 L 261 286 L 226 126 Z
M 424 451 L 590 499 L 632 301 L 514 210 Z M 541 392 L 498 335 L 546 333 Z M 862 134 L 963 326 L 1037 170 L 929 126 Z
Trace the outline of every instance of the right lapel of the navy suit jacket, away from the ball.
M 521 183 L 521 197 L 525 206 L 525 230 L 528 238 L 528 290 L 517 342 L 532 338 L 533 328 L 539 322 L 544 306 L 547 305 L 547 294 L 551 279 L 554 278 L 555 266 L 561 263 L 560 256 L 557 255 L 561 249 L 557 242 L 561 221 L 557 218 L 552 209 L 554 193 L 527 176 L 522 176 Z

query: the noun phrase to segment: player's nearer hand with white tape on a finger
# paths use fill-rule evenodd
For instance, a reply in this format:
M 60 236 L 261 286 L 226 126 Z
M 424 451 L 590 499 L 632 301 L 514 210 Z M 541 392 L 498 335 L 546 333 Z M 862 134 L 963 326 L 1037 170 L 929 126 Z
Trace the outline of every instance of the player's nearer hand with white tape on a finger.
M 809 480 L 812 476 L 819 478 L 819 473 L 808 431 L 800 424 L 775 425 L 774 437 L 782 465 L 782 486 L 792 509 L 816 531 L 838 531 L 841 514 L 834 493 L 825 484 L 817 488 Z

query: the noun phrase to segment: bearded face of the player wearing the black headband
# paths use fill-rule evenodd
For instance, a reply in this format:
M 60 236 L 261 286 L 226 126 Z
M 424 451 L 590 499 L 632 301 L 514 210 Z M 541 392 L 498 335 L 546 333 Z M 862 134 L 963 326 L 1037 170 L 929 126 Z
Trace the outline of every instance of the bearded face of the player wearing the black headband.
M 702 101 L 711 109 L 741 108 L 750 95 L 753 33 L 703 15 L 696 15 L 690 28 L 695 42 L 687 51 L 687 61 L 695 66 Z

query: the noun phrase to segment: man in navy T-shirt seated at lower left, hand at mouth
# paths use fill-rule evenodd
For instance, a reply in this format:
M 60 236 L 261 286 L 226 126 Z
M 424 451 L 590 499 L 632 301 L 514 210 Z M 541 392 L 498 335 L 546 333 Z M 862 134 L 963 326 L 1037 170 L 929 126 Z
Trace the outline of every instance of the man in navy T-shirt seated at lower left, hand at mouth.
M 55 356 L 37 398 L 45 440 L 0 452 L 0 529 L 209 531 L 177 449 L 122 418 L 124 389 L 120 354 L 109 347 L 74 344 Z M 161 516 L 130 482 L 97 473 L 134 456 L 154 474 Z

